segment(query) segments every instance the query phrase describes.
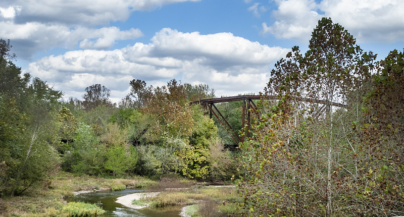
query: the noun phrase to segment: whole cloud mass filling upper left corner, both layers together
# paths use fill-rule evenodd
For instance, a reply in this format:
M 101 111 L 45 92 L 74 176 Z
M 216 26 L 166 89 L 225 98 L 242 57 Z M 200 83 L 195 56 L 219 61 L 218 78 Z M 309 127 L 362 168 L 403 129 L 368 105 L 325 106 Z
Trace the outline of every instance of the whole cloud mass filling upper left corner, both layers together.
M 117 40 L 142 36 L 139 29 L 120 30 L 110 22 L 125 21 L 133 11 L 150 11 L 166 4 L 200 0 L 3 0 L 0 35 L 11 39 L 13 52 L 29 60 L 37 51 L 55 47 L 110 49 Z

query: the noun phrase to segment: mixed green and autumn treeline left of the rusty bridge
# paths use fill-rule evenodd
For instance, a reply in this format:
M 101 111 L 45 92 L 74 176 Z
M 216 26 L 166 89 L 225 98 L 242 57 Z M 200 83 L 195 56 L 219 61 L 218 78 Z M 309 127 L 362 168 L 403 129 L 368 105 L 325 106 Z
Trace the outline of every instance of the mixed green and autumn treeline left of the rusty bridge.
M 223 151 L 223 130 L 218 134 L 202 108 L 189 104 L 214 97 L 208 85 L 173 79 L 153 87 L 134 79 L 118 104 L 100 84 L 85 88 L 82 100 L 64 101 L 61 91 L 22 75 L 10 49 L 10 41 L 1 40 L 0 196 L 19 195 L 59 170 L 212 181 L 237 174 L 234 153 Z M 228 116 L 238 110 L 231 107 Z

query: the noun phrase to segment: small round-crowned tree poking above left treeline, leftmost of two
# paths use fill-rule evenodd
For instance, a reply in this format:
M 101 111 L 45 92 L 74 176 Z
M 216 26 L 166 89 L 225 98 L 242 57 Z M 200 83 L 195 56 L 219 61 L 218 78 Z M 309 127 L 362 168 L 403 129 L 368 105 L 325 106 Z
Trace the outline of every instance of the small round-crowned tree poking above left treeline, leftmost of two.
M 85 110 L 89 111 L 98 105 L 113 107 L 113 103 L 109 99 L 111 91 L 106 86 L 93 84 L 85 88 L 86 93 L 83 95 L 82 105 Z

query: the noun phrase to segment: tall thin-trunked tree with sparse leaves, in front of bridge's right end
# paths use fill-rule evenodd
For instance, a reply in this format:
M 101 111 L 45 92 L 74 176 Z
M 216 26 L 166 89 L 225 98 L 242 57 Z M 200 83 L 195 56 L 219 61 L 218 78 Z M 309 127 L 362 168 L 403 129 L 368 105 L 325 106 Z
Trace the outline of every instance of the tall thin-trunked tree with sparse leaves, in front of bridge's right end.
M 263 101 L 267 106 L 263 110 L 270 112 L 255 127 L 253 138 L 243 144 L 246 177 L 242 185 L 248 207 L 260 206 L 254 202 L 257 198 L 273 205 L 252 208 L 251 213 L 346 213 L 349 206 L 341 196 L 341 183 L 355 181 L 358 152 L 345 130 L 351 124 L 345 111 L 355 109 L 349 94 L 366 84 L 375 58 L 363 52 L 342 26 L 323 18 L 305 55 L 293 47 L 276 63 L 265 91 L 278 95 L 278 100 L 275 105 Z M 311 102 L 302 102 L 304 98 Z

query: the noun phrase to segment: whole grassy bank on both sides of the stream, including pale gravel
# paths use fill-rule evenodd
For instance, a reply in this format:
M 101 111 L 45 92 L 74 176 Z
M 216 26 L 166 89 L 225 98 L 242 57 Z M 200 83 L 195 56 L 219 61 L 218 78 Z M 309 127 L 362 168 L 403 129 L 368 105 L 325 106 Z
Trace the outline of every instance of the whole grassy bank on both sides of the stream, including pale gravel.
M 166 178 L 157 182 L 144 177 L 109 179 L 60 172 L 32 186 L 21 196 L 0 198 L 0 216 L 69 216 L 66 207 L 72 204 L 68 205 L 67 201 L 74 195 L 135 187 L 143 187 L 150 192 L 129 194 L 116 202 L 134 209 L 148 205 L 152 209 L 182 206 L 181 216 L 190 216 L 188 209 L 192 209 L 191 213 L 200 213 L 198 216 L 212 216 L 212 211 L 219 211 L 223 214 L 220 216 L 228 216 L 226 213 L 235 210 L 235 204 L 240 200 L 234 186 L 205 184 L 181 178 Z M 133 200 L 140 202 L 132 204 Z

